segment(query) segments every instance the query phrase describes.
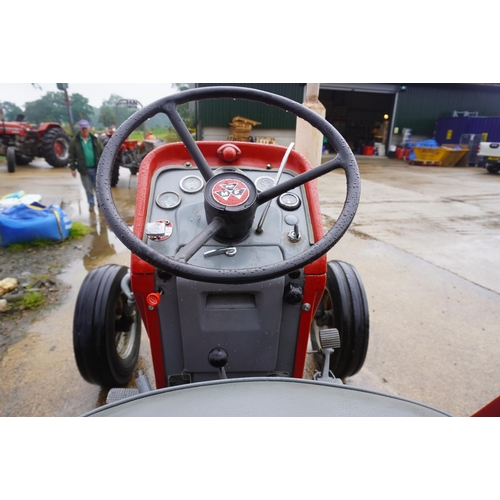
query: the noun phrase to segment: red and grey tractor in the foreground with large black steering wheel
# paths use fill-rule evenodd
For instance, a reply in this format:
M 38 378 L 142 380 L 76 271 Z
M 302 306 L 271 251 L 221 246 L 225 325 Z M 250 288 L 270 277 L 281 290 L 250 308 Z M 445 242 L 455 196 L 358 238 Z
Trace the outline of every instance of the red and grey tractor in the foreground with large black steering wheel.
M 336 156 L 312 167 L 293 144 L 195 141 L 177 106 L 243 99 L 293 113 L 317 128 Z M 165 113 L 182 143 L 141 162 L 133 230 L 111 196 L 121 145 Z M 323 230 L 316 179 L 341 169 L 346 197 Z M 326 120 L 287 98 L 240 87 L 180 92 L 139 110 L 110 138 L 98 169 L 109 227 L 131 251 L 130 269 L 106 265 L 85 278 L 75 306 L 77 366 L 111 388 L 88 416 L 447 416 L 343 383 L 363 366 L 369 309 L 361 277 L 327 252 L 354 219 L 354 155 Z M 156 388 L 138 360 L 141 322 Z M 310 345 L 310 347 L 308 347 Z M 317 369 L 304 379 L 307 351 Z

